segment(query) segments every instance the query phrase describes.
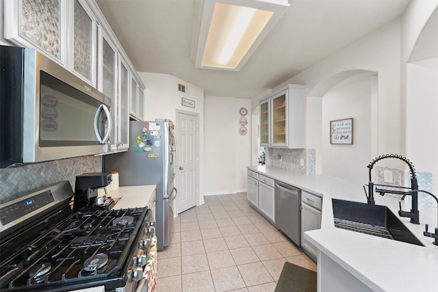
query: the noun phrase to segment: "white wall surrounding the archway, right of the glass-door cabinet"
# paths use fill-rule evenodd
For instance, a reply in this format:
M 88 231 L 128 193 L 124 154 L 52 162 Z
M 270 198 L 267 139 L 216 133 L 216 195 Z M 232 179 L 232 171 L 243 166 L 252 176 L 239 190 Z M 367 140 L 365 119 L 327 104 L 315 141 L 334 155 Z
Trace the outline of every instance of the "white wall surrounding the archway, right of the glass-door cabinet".
M 333 77 L 337 77 L 337 81 L 340 82 L 342 78 L 346 79 L 363 72 L 372 72 L 378 76 L 378 100 L 374 101 L 375 105 L 371 103 L 372 107 L 376 108 L 372 111 L 375 116 L 370 117 L 376 146 L 370 146 L 367 142 L 370 152 L 362 152 L 363 157 L 360 158 L 361 161 L 369 162 L 376 154 L 400 152 L 400 19 L 377 29 L 283 83 L 307 85 L 306 148 L 316 150 L 317 173 L 322 172 L 324 143 L 321 133 L 324 127 L 320 116 L 323 111 L 322 96 L 330 90 L 326 85 L 322 90 L 321 85 L 329 81 L 333 83 Z M 331 84 L 331 87 L 334 85 Z M 366 170 L 367 165 L 357 165 L 357 169 Z M 366 176 L 363 181 L 368 181 Z

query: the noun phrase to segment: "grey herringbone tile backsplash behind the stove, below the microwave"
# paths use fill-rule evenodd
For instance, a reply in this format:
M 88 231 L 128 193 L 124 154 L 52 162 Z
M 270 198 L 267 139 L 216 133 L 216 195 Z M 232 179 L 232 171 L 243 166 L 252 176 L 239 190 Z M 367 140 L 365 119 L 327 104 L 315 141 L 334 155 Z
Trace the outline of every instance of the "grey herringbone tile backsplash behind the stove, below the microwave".
M 85 172 L 101 172 L 101 156 L 83 156 L 0 170 L 0 204 L 20 198 L 58 181 L 70 181 Z

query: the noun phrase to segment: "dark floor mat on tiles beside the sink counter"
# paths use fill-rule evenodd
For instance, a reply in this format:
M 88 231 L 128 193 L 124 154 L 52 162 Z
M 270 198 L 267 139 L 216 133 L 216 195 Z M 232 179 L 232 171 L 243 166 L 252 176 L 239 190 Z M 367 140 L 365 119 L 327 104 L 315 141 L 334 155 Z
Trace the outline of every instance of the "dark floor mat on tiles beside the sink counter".
M 275 292 L 316 291 L 316 272 L 286 262 Z

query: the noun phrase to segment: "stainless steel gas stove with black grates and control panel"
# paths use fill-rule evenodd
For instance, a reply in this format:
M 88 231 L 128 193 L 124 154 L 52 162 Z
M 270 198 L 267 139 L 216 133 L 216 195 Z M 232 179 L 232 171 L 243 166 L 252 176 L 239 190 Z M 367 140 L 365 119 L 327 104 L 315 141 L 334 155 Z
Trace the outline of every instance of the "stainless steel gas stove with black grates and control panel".
M 151 209 L 73 212 L 72 197 L 62 182 L 0 205 L 0 291 L 144 287 Z

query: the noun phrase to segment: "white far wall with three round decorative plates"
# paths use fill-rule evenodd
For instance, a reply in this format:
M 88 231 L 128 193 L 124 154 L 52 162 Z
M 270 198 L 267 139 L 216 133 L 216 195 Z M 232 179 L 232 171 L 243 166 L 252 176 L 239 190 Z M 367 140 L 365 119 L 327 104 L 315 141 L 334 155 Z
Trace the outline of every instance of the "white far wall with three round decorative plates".
M 240 135 L 239 109 L 248 109 L 248 134 Z M 205 96 L 205 194 L 235 194 L 246 190 L 250 165 L 250 100 Z

